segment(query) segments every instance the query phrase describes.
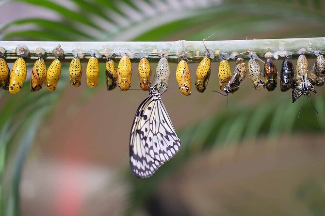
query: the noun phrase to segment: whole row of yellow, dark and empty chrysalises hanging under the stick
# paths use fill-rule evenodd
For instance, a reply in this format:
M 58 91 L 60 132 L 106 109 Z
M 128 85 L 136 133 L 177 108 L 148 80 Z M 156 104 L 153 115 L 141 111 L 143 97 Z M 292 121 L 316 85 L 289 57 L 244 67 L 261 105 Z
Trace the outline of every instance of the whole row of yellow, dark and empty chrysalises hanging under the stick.
M 28 55 L 28 49 L 25 46 L 17 47 L 16 53 L 18 59 L 14 63 L 12 72 L 8 68 L 7 63 L 3 56 L 0 55 L 0 87 L 5 90 L 9 90 L 9 93 L 18 93 L 26 79 L 27 67 L 23 59 L 24 56 Z M 59 78 L 61 76 L 63 50 L 60 46 L 55 47 L 53 52 L 56 54 L 56 59 L 50 64 L 48 70 L 46 69 L 46 64 L 43 59 L 45 50 L 39 48 L 35 50 L 39 58 L 36 60 L 33 66 L 31 74 L 31 91 L 36 92 L 42 88 L 45 81 L 45 87 L 49 91 L 55 90 Z M 248 52 L 248 51 L 247 51 Z M 258 61 L 261 61 L 257 57 L 256 53 L 250 52 L 248 57 L 248 65 L 244 62 L 244 59 L 239 57 L 240 54 L 233 52 L 230 58 L 236 60 L 236 68 L 234 72 L 231 72 L 230 65 L 226 60 L 225 56 L 221 55 L 221 61 L 218 69 L 218 77 L 220 82 L 221 91 L 228 93 L 236 92 L 241 82 L 248 74 L 249 79 L 253 82 L 254 88 L 260 90 L 266 88 L 268 91 L 273 91 L 276 88 L 276 79 L 278 76 L 276 65 L 272 60 L 274 55 L 271 52 L 265 54 L 264 62 L 264 72 L 260 69 Z M 296 64 L 296 72 L 294 71 L 294 66 L 288 58 L 284 55 L 284 60 L 282 62 L 281 71 L 279 73 L 280 78 L 280 89 L 282 92 L 286 92 L 292 89 L 292 101 L 294 102 L 302 94 L 307 96 L 310 95 L 310 91 L 316 94 L 314 87 L 322 86 L 325 82 L 325 58 L 320 52 L 315 52 L 317 55 L 316 62 L 309 71 L 308 62 L 306 58 L 306 50 L 299 50 L 300 56 L 298 57 Z M 91 52 L 91 58 L 87 63 L 86 77 L 87 85 L 90 88 L 95 88 L 98 85 L 99 77 L 99 62 L 98 53 Z M 81 85 L 81 75 L 82 68 L 80 59 L 81 51 L 79 50 L 74 53 L 74 58 L 72 59 L 69 67 L 70 83 L 72 86 L 79 87 Z M 288 54 L 289 55 L 289 54 Z M 151 79 L 151 68 L 149 61 L 146 57 L 142 57 L 139 62 L 138 67 L 140 87 L 144 91 L 147 91 L 150 86 Z M 167 58 L 162 54 L 162 58 L 158 62 L 156 69 L 157 77 L 159 77 L 159 88 L 163 84 L 167 87 L 169 79 L 169 65 Z M 211 57 L 210 52 L 207 50 L 207 56 L 202 59 L 198 64 L 196 69 L 196 80 L 195 88 L 198 92 L 203 93 L 208 85 L 208 81 L 211 74 Z M 113 90 L 118 83 L 122 91 L 127 91 L 130 89 L 132 67 L 130 58 L 128 55 L 123 55 L 120 59 L 118 67 L 116 68 L 115 62 L 107 56 L 106 62 L 106 84 L 107 90 Z M 185 57 L 181 58 L 178 63 L 176 70 L 176 79 L 179 84 L 179 91 L 184 95 L 188 96 L 191 94 L 191 74 Z

